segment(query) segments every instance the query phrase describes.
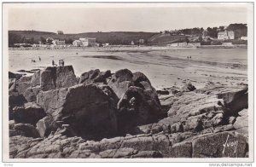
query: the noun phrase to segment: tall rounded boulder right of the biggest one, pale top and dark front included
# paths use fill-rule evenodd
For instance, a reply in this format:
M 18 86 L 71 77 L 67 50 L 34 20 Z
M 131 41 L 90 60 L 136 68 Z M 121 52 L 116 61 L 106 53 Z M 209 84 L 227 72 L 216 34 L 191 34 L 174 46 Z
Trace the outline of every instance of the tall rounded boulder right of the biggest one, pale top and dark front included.
M 108 85 L 119 97 L 120 131 L 148 124 L 164 114 L 156 90 L 142 72 L 119 70 L 113 74 Z

